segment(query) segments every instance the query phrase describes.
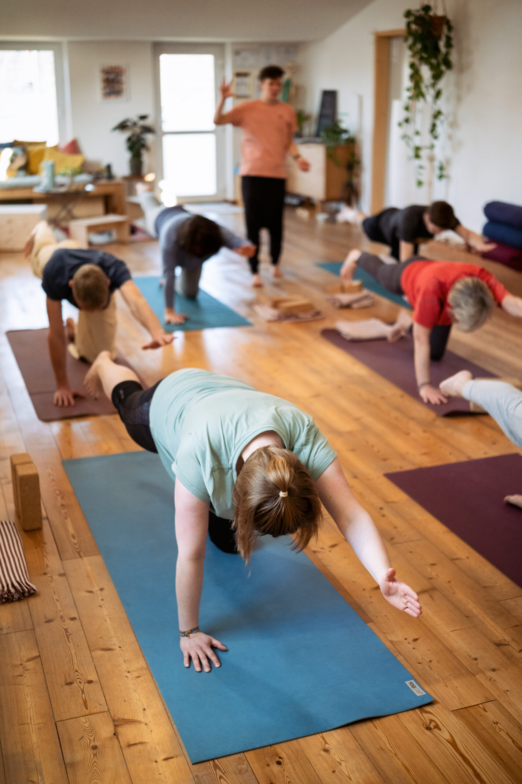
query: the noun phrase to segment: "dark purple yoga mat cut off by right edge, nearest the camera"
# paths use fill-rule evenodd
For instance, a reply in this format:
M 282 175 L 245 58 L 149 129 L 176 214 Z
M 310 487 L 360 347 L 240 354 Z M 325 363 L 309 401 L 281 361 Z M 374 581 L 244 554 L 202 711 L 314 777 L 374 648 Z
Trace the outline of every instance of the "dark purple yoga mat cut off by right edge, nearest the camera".
M 522 587 L 522 510 L 504 503 L 522 493 L 522 456 L 384 475 Z

